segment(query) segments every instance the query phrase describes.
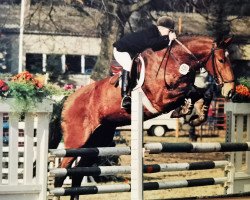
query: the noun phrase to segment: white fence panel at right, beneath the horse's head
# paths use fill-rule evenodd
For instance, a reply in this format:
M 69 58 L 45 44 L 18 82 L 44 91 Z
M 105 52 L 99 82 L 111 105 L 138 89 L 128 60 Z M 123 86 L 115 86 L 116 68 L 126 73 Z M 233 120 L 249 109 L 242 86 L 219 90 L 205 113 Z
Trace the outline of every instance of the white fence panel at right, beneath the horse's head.
M 250 103 L 225 103 L 227 115 L 226 142 L 250 142 Z M 234 164 L 234 184 L 229 193 L 250 191 L 250 152 L 232 152 L 229 161 Z

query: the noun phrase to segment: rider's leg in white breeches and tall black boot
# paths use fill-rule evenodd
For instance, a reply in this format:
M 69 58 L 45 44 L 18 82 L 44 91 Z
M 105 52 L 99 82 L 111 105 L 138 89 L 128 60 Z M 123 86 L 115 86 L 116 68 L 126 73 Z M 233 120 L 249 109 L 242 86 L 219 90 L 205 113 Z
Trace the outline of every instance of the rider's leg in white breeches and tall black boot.
M 131 106 L 131 98 L 127 93 L 127 89 L 128 89 L 128 78 L 129 78 L 129 72 L 131 70 L 132 59 L 128 52 L 119 52 L 117 51 L 116 48 L 114 48 L 113 53 L 116 61 L 123 67 L 122 87 L 121 87 L 121 94 L 122 94 L 121 107 L 129 109 Z

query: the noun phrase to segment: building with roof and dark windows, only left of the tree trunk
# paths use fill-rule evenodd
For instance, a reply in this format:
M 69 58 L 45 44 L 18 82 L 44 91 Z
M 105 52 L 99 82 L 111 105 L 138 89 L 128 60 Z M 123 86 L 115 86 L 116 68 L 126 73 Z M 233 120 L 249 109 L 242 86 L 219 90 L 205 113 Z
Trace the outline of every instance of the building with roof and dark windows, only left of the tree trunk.
M 96 24 L 89 25 L 91 19 L 78 16 L 72 7 L 56 6 L 54 21 L 47 19 L 49 7 L 43 7 L 39 13 L 35 8 L 30 8 L 29 14 L 34 15 L 25 20 L 22 70 L 49 73 L 52 77 L 64 75 L 65 78 L 66 74 L 70 82 L 89 83 L 100 52 Z M 0 13 L 0 72 L 15 74 L 18 73 L 20 5 L 0 5 Z

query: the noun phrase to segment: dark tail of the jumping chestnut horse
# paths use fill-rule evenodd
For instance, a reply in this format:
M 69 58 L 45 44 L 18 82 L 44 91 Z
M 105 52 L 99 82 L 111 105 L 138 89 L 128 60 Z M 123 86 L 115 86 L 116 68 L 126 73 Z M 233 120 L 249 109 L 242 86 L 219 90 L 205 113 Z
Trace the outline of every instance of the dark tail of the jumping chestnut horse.
M 49 123 L 49 149 L 56 149 L 62 140 L 61 114 L 67 96 L 53 105 L 53 112 Z

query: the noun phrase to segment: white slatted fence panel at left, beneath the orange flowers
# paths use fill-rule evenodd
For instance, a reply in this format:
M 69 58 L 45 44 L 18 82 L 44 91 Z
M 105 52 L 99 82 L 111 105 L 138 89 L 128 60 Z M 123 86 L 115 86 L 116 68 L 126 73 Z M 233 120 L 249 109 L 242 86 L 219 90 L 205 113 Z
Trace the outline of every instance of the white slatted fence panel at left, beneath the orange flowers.
M 47 198 L 48 124 L 51 102 L 37 104 L 20 116 L 7 103 L 0 103 L 0 199 L 45 200 Z M 8 143 L 3 143 L 3 116 L 9 115 Z M 19 142 L 24 142 L 19 147 Z M 7 145 L 7 146 L 6 146 Z M 34 162 L 35 161 L 35 162 Z M 35 168 L 34 168 L 35 163 Z

